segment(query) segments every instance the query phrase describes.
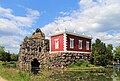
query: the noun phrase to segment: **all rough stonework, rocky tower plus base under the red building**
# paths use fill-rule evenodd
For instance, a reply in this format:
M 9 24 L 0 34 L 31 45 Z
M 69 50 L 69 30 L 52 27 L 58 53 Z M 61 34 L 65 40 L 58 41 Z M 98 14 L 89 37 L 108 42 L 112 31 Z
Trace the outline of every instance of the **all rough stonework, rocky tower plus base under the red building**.
M 47 66 L 67 67 L 71 63 L 90 59 L 90 54 L 84 53 L 49 53 L 49 40 L 44 33 L 36 29 L 30 37 L 25 37 L 20 45 L 19 69 L 30 71 L 32 67 Z

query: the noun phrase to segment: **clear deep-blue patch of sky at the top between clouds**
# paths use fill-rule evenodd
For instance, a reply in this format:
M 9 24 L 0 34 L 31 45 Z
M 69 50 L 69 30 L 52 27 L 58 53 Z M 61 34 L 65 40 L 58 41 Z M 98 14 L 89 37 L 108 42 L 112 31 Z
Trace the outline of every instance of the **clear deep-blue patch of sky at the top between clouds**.
M 35 27 L 43 27 L 60 16 L 61 11 L 78 9 L 78 2 L 79 0 L 0 0 L 0 6 L 11 8 L 14 11 L 13 14 L 19 16 L 25 16 L 27 8 L 38 10 L 40 16 Z

